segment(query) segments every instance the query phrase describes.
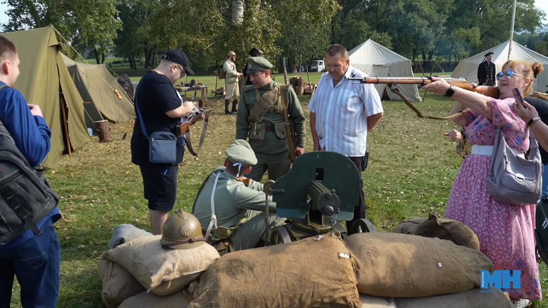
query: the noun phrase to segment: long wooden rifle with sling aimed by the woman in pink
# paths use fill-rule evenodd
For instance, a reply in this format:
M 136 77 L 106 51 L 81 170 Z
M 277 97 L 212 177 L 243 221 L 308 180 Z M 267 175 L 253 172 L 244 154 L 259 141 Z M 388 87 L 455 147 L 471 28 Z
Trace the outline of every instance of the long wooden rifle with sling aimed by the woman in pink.
M 462 115 L 466 110 L 460 111 L 455 113 L 454 115 L 450 115 L 444 118 L 438 118 L 438 117 L 431 117 L 431 116 L 424 116 L 418 109 L 409 102 L 405 96 L 396 87 L 396 84 L 417 84 L 419 87 L 421 85 L 426 85 L 429 83 L 432 83 L 432 77 L 437 76 L 427 76 L 427 77 L 352 77 L 349 78 L 349 80 L 357 81 L 353 83 L 373 83 L 373 84 L 388 84 L 390 90 L 397 94 L 406 104 L 409 106 L 410 109 L 415 111 L 416 115 L 419 118 L 429 118 L 429 119 L 437 119 L 437 120 L 446 120 L 446 119 L 452 119 L 455 117 L 458 117 Z M 452 77 L 439 77 L 445 79 L 447 83 L 454 85 L 455 87 L 459 87 L 461 89 L 469 90 L 472 92 L 480 93 L 486 96 L 490 96 L 492 98 L 498 99 L 499 98 L 499 88 L 496 87 L 488 87 L 487 85 L 479 85 L 477 87 L 474 87 L 466 78 L 452 78 Z

